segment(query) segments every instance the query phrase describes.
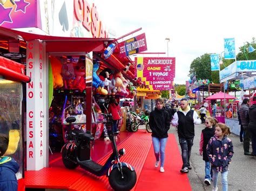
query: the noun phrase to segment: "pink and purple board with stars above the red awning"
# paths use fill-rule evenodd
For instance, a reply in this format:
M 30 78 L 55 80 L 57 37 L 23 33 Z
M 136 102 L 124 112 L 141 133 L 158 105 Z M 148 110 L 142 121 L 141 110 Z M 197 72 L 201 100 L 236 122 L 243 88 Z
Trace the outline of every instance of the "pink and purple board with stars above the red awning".
M 1 1 L 0 1 L 1 2 Z M 0 26 L 16 29 L 24 27 L 41 28 L 41 17 L 36 0 L 2 1 L 0 3 Z

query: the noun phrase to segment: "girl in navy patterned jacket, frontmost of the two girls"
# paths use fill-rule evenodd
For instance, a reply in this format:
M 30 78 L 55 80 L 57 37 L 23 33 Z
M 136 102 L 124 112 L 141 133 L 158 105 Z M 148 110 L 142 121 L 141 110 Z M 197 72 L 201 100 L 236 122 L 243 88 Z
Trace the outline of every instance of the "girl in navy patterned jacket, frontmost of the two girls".
M 223 123 L 218 123 L 215 127 L 215 135 L 209 140 L 206 147 L 208 159 L 212 164 L 213 172 L 213 190 L 218 190 L 218 173 L 221 173 L 221 184 L 223 190 L 227 191 L 228 165 L 233 156 L 233 144 L 227 135 L 230 134 L 230 128 Z

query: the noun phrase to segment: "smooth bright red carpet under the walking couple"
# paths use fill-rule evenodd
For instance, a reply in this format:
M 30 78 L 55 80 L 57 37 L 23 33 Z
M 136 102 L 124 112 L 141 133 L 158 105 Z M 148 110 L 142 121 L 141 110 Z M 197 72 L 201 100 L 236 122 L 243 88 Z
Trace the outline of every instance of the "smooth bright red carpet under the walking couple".
M 155 162 L 153 145 L 151 145 L 135 190 L 192 190 L 187 174 L 179 172 L 182 159 L 173 134 L 169 134 L 165 148 L 164 173 L 160 173 L 160 167 L 154 167 Z

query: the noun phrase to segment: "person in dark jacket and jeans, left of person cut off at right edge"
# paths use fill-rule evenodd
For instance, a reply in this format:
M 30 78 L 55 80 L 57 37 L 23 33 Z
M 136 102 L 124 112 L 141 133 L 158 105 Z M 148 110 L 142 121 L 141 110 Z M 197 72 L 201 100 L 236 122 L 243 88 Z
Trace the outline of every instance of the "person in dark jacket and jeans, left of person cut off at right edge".
M 242 122 L 242 128 L 244 128 L 244 154 L 252 155 L 250 153 L 250 140 L 251 140 L 251 132 L 248 130 L 248 121 L 246 120 L 248 110 L 250 106 L 250 100 L 248 98 L 244 98 L 242 101 L 242 105 L 239 108 L 239 116 Z

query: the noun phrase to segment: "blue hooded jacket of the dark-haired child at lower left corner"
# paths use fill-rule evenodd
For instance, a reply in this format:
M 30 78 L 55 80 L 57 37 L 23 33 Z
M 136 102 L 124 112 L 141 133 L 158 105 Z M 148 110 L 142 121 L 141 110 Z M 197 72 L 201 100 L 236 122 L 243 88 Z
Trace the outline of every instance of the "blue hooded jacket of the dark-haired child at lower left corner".
M 16 173 L 19 170 L 18 163 L 11 157 L 0 158 L 0 190 L 14 191 L 18 189 Z

